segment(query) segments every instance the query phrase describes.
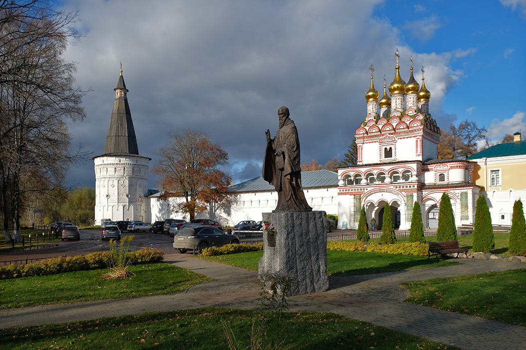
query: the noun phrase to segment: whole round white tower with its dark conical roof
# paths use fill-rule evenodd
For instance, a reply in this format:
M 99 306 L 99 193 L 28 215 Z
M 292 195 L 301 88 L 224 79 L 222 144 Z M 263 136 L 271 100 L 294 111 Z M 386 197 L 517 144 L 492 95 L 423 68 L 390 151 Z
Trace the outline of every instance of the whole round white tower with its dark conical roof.
M 149 220 L 148 162 L 139 155 L 123 70 L 115 90 L 104 154 L 95 162 L 95 224 L 110 220 Z

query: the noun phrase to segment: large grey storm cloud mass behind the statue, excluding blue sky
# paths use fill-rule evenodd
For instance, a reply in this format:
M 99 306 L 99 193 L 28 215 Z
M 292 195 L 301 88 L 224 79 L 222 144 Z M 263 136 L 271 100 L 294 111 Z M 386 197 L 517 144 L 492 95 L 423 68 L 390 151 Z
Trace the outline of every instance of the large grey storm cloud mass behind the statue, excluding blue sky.
M 69 126 L 73 143 L 92 157 L 103 153 L 122 62 L 139 153 L 153 158 L 150 168 L 170 131 L 197 129 L 228 152 L 235 183 L 260 176 L 265 130 L 276 132 L 281 105 L 298 127 L 302 161 L 341 159 L 366 114 L 371 63 L 380 93 L 383 75 L 387 84 L 394 77 L 397 47 L 404 80 L 410 55 L 415 67 L 432 66 L 426 84 L 439 87 L 428 86 L 432 113 L 454 82 L 448 55 L 397 45 L 396 30 L 371 17 L 374 5 L 72 1 L 66 9 L 79 10 L 85 37 L 67 57 L 78 62 L 77 82 L 93 89 L 84 98 L 88 118 Z M 94 186 L 93 174 L 88 162 L 69 179 Z M 149 186 L 157 180 L 150 176 Z

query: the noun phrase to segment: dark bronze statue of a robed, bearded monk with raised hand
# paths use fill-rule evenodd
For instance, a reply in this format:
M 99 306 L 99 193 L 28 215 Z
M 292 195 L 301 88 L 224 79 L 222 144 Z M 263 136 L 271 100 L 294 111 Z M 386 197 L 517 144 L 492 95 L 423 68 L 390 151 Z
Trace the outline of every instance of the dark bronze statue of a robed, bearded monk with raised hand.
M 311 211 L 301 187 L 298 130 L 287 107 L 280 107 L 278 116 L 279 129 L 274 139 L 270 138 L 269 130 L 265 132 L 267 147 L 263 160 L 263 178 L 278 192 L 278 205 L 272 211 Z

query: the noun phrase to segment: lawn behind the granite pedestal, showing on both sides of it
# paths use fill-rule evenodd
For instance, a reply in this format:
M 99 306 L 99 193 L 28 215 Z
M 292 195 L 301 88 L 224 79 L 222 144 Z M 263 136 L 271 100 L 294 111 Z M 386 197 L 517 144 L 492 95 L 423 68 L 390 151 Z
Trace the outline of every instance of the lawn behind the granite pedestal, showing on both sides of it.
M 245 270 L 258 270 L 263 251 L 227 254 L 214 257 L 198 256 L 200 259 L 217 262 Z M 360 251 L 327 250 L 327 273 L 336 276 L 351 276 L 380 272 L 393 272 L 413 268 L 428 268 L 456 265 L 458 262 L 402 254 L 372 253 Z

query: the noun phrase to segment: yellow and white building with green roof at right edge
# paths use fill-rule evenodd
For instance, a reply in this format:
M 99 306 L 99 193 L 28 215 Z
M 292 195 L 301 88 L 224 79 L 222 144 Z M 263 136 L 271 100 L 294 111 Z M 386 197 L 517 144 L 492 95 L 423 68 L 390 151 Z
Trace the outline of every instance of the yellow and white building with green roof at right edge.
M 515 133 L 504 142 L 466 158 L 476 162 L 473 180 L 488 200 L 493 225 L 511 225 L 513 203 L 526 204 L 526 141 Z

